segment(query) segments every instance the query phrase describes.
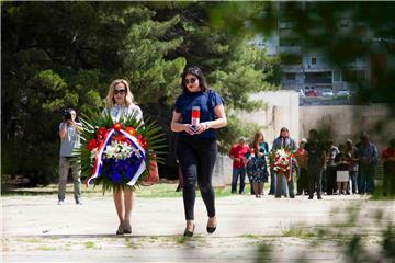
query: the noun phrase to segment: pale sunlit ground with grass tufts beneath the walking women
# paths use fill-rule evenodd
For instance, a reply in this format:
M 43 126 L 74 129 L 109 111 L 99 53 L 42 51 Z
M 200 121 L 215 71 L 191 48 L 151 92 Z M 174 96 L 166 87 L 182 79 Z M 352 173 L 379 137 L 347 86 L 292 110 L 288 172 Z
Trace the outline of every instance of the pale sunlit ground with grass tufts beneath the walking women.
M 1 262 L 349 262 L 345 251 L 352 233 L 361 233 L 368 248 L 359 256 L 390 262 L 381 252 L 381 233 L 395 225 L 394 201 L 232 195 L 216 199 L 214 235 L 206 233 L 198 198 L 195 235 L 183 238 L 182 198 L 137 194 L 133 233 L 116 236 L 111 194 L 87 197 L 83 205 L 70 195 L 61 206 L 56 201 L 56 195 L 2 197 Z

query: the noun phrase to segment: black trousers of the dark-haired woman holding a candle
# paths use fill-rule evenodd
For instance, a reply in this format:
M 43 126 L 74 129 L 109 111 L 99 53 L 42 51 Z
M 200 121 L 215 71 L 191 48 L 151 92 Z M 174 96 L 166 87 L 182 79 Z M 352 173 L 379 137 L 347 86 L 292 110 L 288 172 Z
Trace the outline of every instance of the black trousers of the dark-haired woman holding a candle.
M 208 217 L 215 216 L 212 175 L 217 156 L 215 139 L 180 138 L 176 146 L 184 179 L 183 203 L 185 219 L 194 219 L 195 185 L 198 182 Z

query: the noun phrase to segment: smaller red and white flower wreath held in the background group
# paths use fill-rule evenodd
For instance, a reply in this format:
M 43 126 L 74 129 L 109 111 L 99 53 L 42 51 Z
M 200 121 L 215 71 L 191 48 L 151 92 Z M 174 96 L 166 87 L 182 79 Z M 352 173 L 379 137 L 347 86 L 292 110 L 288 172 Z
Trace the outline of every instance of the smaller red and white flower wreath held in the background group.
M 272 170 L 279 174 L 285 174 L 287 180 L 291 179 L 294 153 L 289 149 L 278 149 L 269 155 L 269 162 Z

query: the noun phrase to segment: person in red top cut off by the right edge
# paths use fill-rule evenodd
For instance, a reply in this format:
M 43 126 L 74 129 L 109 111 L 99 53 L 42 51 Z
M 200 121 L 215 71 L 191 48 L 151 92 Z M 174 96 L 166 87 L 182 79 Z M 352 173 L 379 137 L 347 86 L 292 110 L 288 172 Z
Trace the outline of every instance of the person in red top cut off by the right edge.
M 390 147 L 382 152 L 384 167 L 383 195 L 395 195 L 395 138 L 390 140 Z

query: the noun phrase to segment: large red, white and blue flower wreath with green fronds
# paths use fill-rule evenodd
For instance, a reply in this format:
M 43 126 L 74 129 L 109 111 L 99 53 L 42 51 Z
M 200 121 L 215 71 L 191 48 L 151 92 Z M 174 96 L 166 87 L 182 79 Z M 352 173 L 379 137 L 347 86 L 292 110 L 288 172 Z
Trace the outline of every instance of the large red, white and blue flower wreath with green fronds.
M 81 161 L 87 186 L 92 180 L 105 190 L 139 185 L 151 169 L 151 161 L 161 161 L 159 151 L 165 138 L 153 122 L 143 123 L 134 115 L 113 123 L 110 114 L 81 118 Z

